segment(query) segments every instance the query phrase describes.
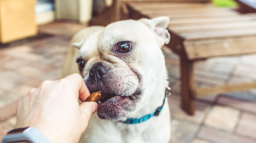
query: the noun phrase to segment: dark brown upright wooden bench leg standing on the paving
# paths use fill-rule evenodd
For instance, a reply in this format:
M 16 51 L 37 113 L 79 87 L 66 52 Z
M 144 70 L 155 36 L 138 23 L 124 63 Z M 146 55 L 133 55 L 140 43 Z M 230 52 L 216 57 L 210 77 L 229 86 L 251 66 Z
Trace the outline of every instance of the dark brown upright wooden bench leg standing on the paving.
M 193 61 L 181 58 L 181 108 L 189 115 L 195 113 Z

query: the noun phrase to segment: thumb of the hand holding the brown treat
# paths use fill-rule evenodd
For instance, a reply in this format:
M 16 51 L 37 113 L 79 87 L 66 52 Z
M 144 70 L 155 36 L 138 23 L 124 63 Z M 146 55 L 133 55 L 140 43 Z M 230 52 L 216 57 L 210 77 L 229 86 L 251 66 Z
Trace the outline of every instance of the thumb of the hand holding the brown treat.
M 91 118 L 92 114 L 97 111 L 98 104 L 96 102 L 83 102 L 80 104 L 80 111 L 85 115 L 85 118 Z

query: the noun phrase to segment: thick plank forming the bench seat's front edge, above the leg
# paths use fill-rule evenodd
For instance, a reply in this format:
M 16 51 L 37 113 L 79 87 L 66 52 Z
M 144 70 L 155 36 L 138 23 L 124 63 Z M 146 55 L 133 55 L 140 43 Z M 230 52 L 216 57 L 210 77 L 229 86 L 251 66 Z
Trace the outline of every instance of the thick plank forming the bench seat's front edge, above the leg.
M 213 56 L 230 56 L 256 53 L 256 35 L 227 37 L 206 40 L 188 40 L 183 42 L 187 58 L 190 60 Z

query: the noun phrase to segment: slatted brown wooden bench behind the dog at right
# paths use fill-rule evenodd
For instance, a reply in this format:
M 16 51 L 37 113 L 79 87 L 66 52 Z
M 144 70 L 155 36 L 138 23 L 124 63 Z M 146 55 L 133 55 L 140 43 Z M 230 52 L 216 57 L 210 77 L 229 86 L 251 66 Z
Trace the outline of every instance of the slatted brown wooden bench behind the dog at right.
M 193 73 L 194 63 L 206 58 L 256 53 L 255 15 L 217 8 L 210 0 L 122 2 L 122 19 L 170 17 L 167 46 L 180 56 L 181 107 L 188 114 L 195 113 L 197 96 L 256 88 L 256 83 L 196 88 Z

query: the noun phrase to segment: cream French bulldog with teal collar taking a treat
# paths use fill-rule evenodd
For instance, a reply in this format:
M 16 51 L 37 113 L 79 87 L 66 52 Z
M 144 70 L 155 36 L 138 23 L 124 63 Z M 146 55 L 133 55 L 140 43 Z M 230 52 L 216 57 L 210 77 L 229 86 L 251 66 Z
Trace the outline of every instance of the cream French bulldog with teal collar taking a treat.
M 90 93 L 101 91 L 80 143 L 168 143 L 167 70 L 161 47 L 169 17 L 118 21 L 76 33 L 63 76 L 80 73 Z M 164 102 L 166 101 L 166 102 Z

